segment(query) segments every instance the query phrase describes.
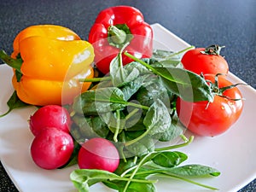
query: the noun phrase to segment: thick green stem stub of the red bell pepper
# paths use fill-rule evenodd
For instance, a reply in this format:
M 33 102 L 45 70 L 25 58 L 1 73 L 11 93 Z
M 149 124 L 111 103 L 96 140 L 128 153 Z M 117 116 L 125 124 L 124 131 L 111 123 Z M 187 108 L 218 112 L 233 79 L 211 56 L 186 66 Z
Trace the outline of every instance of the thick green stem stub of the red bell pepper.
M 111 38 L 114 44 L 124 44 L 126 40 L 126 33 L 124 30 L 116 26 L 108 26 L 108 37 Z

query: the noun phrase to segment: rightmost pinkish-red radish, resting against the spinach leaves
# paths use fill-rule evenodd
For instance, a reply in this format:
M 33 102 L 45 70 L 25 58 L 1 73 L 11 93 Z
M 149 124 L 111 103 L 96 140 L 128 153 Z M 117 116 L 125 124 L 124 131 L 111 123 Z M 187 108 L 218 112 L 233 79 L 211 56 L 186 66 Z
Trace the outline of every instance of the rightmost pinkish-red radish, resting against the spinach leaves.
M 119 166 L 119 152 L 104 138 L 91 138 L 79 150 L 80 169 L 99 169 L 114 172 Z

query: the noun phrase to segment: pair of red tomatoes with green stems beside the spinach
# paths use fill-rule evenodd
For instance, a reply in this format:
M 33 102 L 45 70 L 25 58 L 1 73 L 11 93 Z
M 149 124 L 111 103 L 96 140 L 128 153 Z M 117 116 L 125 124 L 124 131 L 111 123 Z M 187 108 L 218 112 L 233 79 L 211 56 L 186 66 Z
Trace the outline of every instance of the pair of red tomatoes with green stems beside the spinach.
M 225 78 L 229 66 L 219 55 L 221 47 L 212 45 L 190 49 L 182 58 L 183 67 L 203 75 L 212 88 L 213 102 L 185 102 L 177 98 L 177 115 L 181 123 L 201 136 L 214 137 L 227 131 L 241 115 L 241 91 Z

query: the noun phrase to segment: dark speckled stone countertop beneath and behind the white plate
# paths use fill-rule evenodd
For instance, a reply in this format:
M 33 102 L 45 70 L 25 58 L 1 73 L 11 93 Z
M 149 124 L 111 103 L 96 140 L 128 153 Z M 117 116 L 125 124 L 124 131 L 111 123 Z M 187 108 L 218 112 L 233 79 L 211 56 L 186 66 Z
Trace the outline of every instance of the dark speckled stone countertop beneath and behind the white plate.
M 1 0 L 0 49 L 10 54 L 16 34 L 37 24 L 67 26 L 87 40 L 99 11 L 120 4 L 140 9 L 148 23 L 160 23 L 196 47 L 225 45 L 221 54 L 230 72 L 256 88 L 255 0 Z M 0 191 L 17 191 L 2 165 Z M 255 181 L 239 192 L 252 191 L 256 191 Z

